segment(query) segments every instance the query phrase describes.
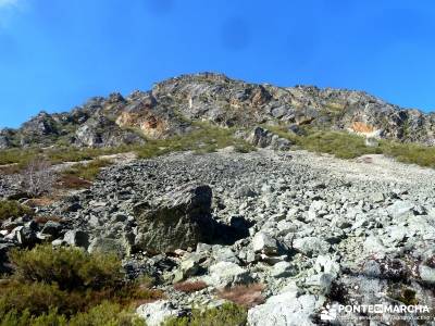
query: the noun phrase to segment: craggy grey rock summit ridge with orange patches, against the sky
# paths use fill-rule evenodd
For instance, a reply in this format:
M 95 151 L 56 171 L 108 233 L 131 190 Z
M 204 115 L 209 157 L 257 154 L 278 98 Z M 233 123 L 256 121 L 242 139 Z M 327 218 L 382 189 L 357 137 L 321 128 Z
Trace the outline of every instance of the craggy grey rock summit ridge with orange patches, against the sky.
M 91 98 L 67 113 L 41 112 L 18 129 L 0 130 L 0 148 L 144 143 L 189 133 L 198 121 L 225 127 L 283 122 L 435 143 L 434 113 L 402 109 L 363 91 L 254 85 L 202 73 L 171 78 L 126 98 Z

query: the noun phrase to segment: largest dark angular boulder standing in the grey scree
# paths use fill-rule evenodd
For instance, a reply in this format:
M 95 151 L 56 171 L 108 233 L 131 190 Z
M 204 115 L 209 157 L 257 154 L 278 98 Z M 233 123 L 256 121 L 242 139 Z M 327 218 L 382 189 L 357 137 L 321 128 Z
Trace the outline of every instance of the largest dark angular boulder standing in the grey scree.
M 136 205 L 135 246 L 150 252 L 173 252 L 210 242 L 215 222 L 211 217 L 209 186 L 189 184 L 166 193 L 160 202 Z

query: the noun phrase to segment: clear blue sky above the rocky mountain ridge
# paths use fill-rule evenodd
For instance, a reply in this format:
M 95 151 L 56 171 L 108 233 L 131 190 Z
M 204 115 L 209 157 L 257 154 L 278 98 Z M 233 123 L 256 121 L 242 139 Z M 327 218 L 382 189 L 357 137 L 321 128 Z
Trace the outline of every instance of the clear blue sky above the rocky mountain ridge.
M 183 73 L 435 109 L 435 3 L 0 0 L 0 127 Z

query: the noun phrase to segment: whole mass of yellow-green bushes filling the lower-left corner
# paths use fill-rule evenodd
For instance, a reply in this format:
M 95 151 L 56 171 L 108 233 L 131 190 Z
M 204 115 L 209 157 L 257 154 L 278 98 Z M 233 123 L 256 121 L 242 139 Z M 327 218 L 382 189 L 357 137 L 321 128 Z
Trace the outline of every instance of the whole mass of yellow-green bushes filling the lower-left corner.
M 14 273 L 0 285 L 0 319 L 8 316 L 16 321 L 30 318 L 32 323 L 37 323 L 39 317 L 52 316 L 55 310 L 60 319 L 63 316 L 71 318 L 69 325 L 119 325 L 116 322 L 111 324 L 117 316 L 111 315 L 111 311 L 105 315 L 109 319 L 101 317 L 108 324 L 79 323 L 102 315 L 103 308 L 92 309 L 105 301 L 116 304 L 119 309 L 114 311 L 129 321 L 128 314 L 121 314 L 121 309 L 163 297 L 161 291 L 150 289 L 149 284 L 141 279 L 126 280 L 121 262 L 114 255 L 89 254 L 76 248 L 46 244 L 32 250 L 13 250 L 10 261 Z M 75 317 L 78 324 L 73 323 Z

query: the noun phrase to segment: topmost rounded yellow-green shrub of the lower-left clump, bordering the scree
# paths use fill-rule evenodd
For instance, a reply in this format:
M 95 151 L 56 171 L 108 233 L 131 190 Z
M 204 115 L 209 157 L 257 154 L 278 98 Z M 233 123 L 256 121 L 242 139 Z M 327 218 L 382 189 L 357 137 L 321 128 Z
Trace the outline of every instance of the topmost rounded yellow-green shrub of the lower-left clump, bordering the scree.
M 89 254 L 77 248 L 37 246 L 32 250 L 13 250 L 10 260 L 20 279 L 55 283 L 61 289 L 99 290 L 119 287 L 124 279 L 116 256 Z

